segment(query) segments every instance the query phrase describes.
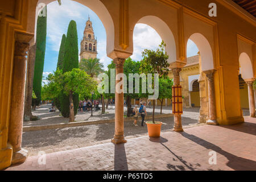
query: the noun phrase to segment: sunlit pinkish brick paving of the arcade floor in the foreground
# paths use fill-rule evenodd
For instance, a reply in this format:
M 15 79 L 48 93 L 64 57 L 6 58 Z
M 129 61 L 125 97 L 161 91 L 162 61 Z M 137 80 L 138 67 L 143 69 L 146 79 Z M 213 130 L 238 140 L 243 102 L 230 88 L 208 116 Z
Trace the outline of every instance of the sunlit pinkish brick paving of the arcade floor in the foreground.
M 39 156 L 6 170 L 256 170 L 256 119 L 233 126 L 203 125 L 167 131 L 160 138 L 127 139 Z M 209 152 L 216 164 L 209 164 Z

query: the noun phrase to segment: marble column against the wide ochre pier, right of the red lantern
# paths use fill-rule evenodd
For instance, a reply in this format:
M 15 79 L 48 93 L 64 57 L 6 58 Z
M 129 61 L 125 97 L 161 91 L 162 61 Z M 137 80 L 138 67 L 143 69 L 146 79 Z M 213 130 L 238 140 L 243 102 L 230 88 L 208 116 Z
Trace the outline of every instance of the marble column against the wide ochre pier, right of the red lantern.
M 214 94 L 214 69 L 204 71 L 208 80 L 208 95 L 209 95 L 209 120 L 208 125 L 218 125 L 216 121 L 216 107 L 215 107 L 215 94 Z

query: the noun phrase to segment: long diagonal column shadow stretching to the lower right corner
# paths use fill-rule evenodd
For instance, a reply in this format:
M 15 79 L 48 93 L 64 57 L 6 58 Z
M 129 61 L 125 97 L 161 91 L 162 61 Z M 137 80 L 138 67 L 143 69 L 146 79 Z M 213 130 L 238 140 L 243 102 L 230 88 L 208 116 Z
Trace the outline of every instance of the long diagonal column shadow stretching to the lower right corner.
M 191 140 L 192 142 L 200 144 L 201 146 L 209 150 L 216 151 L 218 154 L 225 156 L 229 160 L 229 162 L 226 163 L 226 165 L 236 171 L 247 171 L 247 170 L 254 171 L 256 169 L 256 162 L 254 160 L 244 159 L 236 155 L 230 154 L 229 152 L 222 150 L 220 147 L 216 146 L 215 144 L 207 142 L 206 140 L 196 137 L 195 135 L 191 135 L 185 132 L 182 132 L 180 134 L 183 137 Z

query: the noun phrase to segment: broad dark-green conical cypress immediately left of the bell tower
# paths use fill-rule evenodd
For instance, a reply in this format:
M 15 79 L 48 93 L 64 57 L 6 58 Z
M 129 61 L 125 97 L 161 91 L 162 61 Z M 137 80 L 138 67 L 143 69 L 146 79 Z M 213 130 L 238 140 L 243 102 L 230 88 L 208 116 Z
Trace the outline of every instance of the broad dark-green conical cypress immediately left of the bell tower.
M 77 39 L 76 22 L 71 20 L 68 26 L 67 38 L 65 40 L 65 51 L 63 61 L 63 73 L 72 71 L 73 68 L 79 68 L 79 49 Z M 74 112 L 77 114 L 79 107 L 79 94 L 73 94 Z M 61 114 L 63 117 L 69 117 L 69 96 L 63 92 L 60 94 Z

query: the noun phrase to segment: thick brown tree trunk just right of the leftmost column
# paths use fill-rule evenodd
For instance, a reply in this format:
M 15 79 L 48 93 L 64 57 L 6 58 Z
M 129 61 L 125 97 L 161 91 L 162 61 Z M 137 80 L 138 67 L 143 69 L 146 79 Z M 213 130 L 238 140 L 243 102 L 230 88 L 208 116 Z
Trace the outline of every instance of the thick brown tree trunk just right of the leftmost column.
M 32 118 L 32 92 L 33 92 L 33 78 L 35 68 L 36 43 L 30 47 L 27 56 L 27 75 L 26 75 L 26 91 L 24 101 L 24 121 L 30 121 Z M 35 109 L 35 107 L 34 107 Z

